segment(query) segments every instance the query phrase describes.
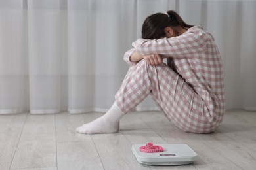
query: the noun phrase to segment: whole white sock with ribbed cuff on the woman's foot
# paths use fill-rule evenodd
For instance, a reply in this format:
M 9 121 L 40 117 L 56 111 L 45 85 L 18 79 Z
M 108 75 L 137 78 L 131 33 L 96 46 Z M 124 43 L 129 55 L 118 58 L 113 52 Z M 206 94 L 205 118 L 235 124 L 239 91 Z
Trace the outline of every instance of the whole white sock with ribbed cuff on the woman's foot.
M 119 120 L 124 115 L 125 114 L 119 109 L 115 101 L 106 114 L 93 120 L 93 122 L 78 127 L 76 131 L 86 134 L 116 133 L 119 131 Z

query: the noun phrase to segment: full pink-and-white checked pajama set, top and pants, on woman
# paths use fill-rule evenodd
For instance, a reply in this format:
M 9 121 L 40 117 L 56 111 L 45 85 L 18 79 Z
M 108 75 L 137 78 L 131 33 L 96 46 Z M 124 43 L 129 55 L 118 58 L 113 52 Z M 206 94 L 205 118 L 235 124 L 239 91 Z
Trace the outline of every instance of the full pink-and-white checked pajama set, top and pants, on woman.
M 160 54 L 167 65 L 129 60 L 133 52 Z M 124 56 L 129 71 L 116 93 L 116 103 L 127 113 L 149 94 L 175 126 L 187 132 L 209 133 L 222 122 L 225 111 L 223 65 L 210 33 L 194 26 L 177 37 L 138 39 Z

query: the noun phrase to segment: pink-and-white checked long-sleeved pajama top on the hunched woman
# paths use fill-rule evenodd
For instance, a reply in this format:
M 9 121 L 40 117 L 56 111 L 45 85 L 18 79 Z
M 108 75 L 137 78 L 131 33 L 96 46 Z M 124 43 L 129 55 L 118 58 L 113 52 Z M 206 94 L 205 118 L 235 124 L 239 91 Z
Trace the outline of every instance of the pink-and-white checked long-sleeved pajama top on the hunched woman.
M 168 65 L 205 103 L 205 115 L 213 125 L 219 125 L 225 111 L 223 65 L 213 36 L 200 26 L 194 26 L 177 37 L 163 39 L 138 39 L 124 55 L 129 64 L 130 56 L 137 51 L 142 55 L 160 54 Z

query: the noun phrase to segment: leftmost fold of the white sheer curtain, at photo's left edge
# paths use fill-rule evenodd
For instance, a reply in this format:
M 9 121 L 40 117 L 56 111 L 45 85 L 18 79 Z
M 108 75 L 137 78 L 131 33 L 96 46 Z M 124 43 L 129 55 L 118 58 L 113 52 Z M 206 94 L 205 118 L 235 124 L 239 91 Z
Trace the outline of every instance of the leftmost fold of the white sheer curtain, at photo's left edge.
M 28 46 L 22 1 L 0 1 L 0 112 L 28 109 Z M 27 107 L 27 108 L 26 108 Z

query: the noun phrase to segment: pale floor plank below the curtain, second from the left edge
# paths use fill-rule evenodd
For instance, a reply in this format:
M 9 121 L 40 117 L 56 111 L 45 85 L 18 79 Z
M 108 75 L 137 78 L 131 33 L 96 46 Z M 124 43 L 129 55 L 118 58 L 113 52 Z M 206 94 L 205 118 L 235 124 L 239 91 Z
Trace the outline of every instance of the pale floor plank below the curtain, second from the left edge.
M 54 115 L 29 114 L 11 169 L 56 167 Z

